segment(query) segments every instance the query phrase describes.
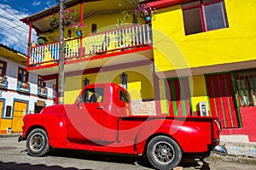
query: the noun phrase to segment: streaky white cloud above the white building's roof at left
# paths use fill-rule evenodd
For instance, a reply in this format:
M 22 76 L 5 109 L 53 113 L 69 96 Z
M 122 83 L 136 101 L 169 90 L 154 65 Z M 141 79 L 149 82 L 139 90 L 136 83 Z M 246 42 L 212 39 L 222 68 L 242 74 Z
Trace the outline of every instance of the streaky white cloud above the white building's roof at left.
M 26 54 L 28 26 L 20 21 L 29 14 L 19 12 L 7 4 L 0 3 L 0 43 Z M 33 31 L 35 35 L 35 31 Z M 33 36 L 32 39 L 36 37 Z

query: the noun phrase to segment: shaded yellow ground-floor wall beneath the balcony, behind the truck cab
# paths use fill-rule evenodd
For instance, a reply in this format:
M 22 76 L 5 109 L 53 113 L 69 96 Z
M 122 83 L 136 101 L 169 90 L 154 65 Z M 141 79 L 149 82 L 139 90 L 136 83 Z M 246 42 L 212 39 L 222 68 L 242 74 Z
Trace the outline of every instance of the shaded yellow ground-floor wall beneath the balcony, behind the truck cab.
M 131 94 L 132 100 L 154 99 L 154 82 L 150 65 L 126 68 L 122 70 L 100 71 L 65 79 L 65 103 L 72 104 L 77 99 L 83 88 L 83 80 L 95 82 L 114 82 L 120 84 L 121 74 L 127 74 L 127 89 Z

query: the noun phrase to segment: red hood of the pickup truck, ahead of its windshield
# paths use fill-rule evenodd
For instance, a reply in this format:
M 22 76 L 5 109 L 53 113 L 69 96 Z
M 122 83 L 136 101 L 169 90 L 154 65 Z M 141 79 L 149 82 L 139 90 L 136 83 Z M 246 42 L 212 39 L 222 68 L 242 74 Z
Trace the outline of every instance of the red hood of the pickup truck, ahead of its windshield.
M 66 109 L 70 107 L 71 105 L 50 105 L 45 107 L 40 114 L 45 115 L 55 115 L 55 116 L 65 116 L 66 115 Z

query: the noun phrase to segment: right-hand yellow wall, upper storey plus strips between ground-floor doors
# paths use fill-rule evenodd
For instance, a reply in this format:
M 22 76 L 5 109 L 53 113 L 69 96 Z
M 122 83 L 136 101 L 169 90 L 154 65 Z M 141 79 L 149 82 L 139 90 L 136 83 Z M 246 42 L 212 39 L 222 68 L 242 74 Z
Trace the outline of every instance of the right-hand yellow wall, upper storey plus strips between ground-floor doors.
M 224 1 L 228 28 L 185 35 L 181 5 L 161 8 L 152 20 L 154 65 L 156 72 L 165 76 L 189 77 L 192 112 L 198 111 L 201 101 L 207 101 L 205 73 L 217 72 L 207 66 L 238 63 L 256 59 L 256 3 L 240 0 Z M 254 27 L 253 27 L 254 26 Z M 193 69 L 199 68 L 196 74 Z M 191 70 L 190 70 L 191 69 Z M 230 68 L 236 70 L 236 68 Z M 230 70 L 227 70 L 230 71 Z M 160 108 L 168 114 L 166 81 L 160 80 Z

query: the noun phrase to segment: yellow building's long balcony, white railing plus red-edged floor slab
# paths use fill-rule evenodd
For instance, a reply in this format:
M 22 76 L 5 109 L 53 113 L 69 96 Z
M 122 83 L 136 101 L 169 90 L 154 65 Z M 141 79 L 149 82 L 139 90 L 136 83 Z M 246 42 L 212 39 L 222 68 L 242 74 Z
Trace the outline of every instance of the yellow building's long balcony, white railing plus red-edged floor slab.
M 117 57 L 117 62 L 113 65 L 135 62 L 138 59 L 136 54 L 153 59 L 150 52 L 152 53 L 152 31 L 148 24 L 104 31 L 65 41 L 65 71 L 84 70 L 84 65 L 81 65 L 84 62 L 86 69 L 99 67 L 109 63 L 113 57 Z M 59 42 L 32 47 L 27 70 L 42 76 L 55 74 L 58 60 Z

